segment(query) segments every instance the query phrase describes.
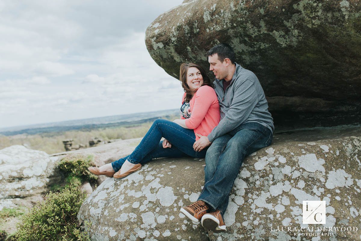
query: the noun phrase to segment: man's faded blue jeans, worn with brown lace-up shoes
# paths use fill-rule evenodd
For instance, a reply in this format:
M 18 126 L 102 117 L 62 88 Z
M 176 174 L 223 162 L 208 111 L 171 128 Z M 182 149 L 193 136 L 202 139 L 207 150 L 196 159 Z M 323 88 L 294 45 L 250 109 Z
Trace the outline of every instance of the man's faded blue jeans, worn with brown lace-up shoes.
M 215 139 L 205 157 L 205 184 L 198 200 L 208 203 L 211 210 L 218 209 L 224 214 L 244 158 L 269 146 L 272 139 L 271 130 L 257 122 L 240 125 Z

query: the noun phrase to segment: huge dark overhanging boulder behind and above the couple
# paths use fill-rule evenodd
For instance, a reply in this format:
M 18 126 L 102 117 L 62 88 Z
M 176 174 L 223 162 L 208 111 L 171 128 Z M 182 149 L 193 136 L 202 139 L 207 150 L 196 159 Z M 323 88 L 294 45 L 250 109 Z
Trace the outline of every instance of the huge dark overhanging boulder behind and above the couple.
M 184 1 L 149 25 L 145 43 L 176 78 L 183 62 L 209 69 L 206 51 L 229 43 L 259 78 L 276 126 L 360 122 L 359 1 Z

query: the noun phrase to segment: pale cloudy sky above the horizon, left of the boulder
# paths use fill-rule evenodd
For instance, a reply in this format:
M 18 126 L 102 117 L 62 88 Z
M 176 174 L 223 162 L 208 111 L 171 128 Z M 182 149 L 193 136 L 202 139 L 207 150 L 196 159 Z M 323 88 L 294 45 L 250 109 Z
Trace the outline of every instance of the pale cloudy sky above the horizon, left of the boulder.
M 0 128 L 179 108 L 145 30 L 182 0 L 0 1 Z

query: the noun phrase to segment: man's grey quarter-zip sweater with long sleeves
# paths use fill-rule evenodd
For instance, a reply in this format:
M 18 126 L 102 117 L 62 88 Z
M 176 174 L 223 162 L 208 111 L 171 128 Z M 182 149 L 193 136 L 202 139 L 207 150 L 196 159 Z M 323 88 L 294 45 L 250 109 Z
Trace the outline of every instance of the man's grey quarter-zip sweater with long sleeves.
M 210 142 L 227 134 L 247 122 L 257 122 L 268 127 L 273 133 L 274 125 L 268 103 L 260 81 L 256 75 L 235 63 L 236 71 L 230 85 L 223 90 L 223 81 L 215 79 L 221 121 L 208 135 Z

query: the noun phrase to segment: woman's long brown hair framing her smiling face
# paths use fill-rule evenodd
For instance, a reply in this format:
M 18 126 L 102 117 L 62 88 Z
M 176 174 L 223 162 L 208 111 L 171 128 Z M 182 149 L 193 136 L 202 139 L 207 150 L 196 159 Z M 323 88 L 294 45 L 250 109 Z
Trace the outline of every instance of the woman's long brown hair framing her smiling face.
M 183 63 L 183 64 L 181 64 L 181 69 L 179 70 L 179 80 L 182 83 L 184 92 L 186 92 L 186 96 L 184 97 L 185 102 L 189 102 L 192 99 L 193 94 L 194 94 L 187 85 L 187 71 L 188 71 L 188 68 L 191 68 L 191 67 L 195 67 L 199 70 L 199 72 L 201 72 L 201 75 L 203 77 L 202 86 L 208 85 L 214 89 L 213 83 L 210 82 L 209 77 L 207 76 L 204 69 L 200 65 L 197 65 L 194 63 Z

